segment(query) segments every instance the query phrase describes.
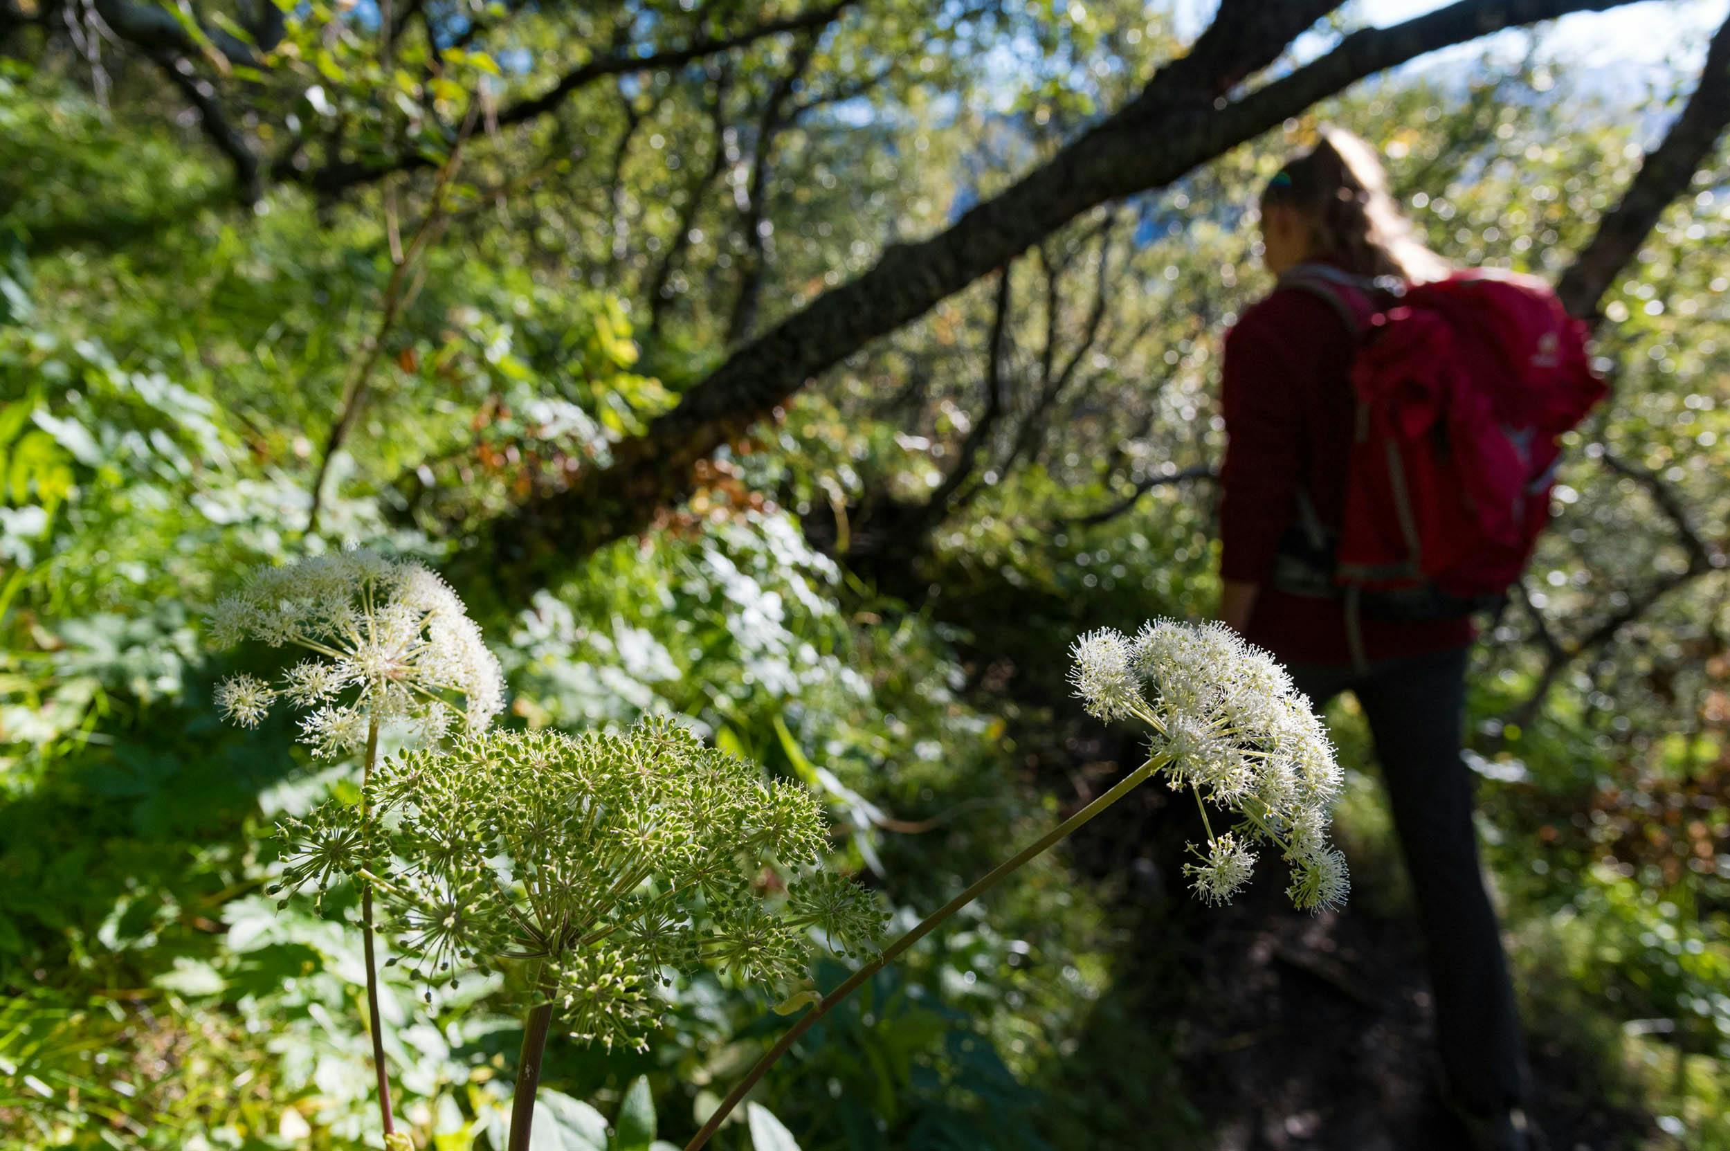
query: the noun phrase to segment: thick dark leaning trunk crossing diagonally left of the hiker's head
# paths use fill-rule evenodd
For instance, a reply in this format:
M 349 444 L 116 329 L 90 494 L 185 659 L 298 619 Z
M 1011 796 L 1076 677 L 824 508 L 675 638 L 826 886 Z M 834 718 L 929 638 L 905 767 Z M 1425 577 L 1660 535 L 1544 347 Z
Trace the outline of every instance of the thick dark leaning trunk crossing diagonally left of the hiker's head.
M 735 350 L 645 434 L 618 445 L 611 467 L 581 473 L 571 488 L 495 519 L 488 571 L 477 578 L 519 599 L 595 547 L 640 531 L 659 507 L 689 495 L 697 460 L 773 414 L 806 381 L 1083 211 L 1163 187 L 1372 73 L 1500 28 L 1618 3 L 1462 0 L 1393 28 L 1353 33 L 1311 64 L 1220 107 L 1225 93 L 1334 7 L 1330 0 L 1227 5 L 1235 19 L 1214 21 L 1189 55 L 1048 163 L 938 235 L 889 246 L 875 267 Z

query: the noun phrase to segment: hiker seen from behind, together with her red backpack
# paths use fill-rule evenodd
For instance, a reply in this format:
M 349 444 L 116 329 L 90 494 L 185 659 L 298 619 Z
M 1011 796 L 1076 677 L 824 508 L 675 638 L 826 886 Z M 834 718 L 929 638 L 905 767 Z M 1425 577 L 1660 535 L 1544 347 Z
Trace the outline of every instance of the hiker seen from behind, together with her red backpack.
M 1377 447 L 1367 436 L 1398 436 L 1401 426 L 1381 408 L 1363 410 L 1360 393 L 1368 384 L 1362 383 L 1360 351 L 1375 348 L 1375 370 L 1405 355 L 1401 367 L 1432 384 L 1432 410 L 1420 414 L 1464 419 L 1446 407 L 1446 396 L 1450 388 L 1474 383 L 1476 363 L 1465 362 L 1458 372 L 1453 365 L 1467 350 L 1483 360 L 1496 348 L 1488 348 L 1488 334 L 1483 348 L 1460 339 L 1450 344 L 1457 353 L 1450 358 L 1424 341 L 1458 332 L 1438 327 L 1438 315 L 1451 322 L 1464 313 L 1469 327 L 1472 308 L 1488 315 L 1484 308 L 1507 305 L 1514 329 L 1509 334 L 1507 324 L 1491 320 L 1498 338 L 1536 341 L 1540 351 L 1560 348 L 1566 360 L 1557 367 L 1535 351 L 1528 358 L 1548 374 L 1535 383 L 1521 379 L 1521 386 L 1550 389 L 1562 396 L 1562 407 L 1583 414 L 1602 384 L 1586 367 L 1583 332 L 1547 286 L 1495 273 L 1453 275 L 1412 237 L 1374 152 L 1349 133 L 1325 130 L 1311 152 L 1268 182 L 1261 234 L 1278 284 L 1225 341 L 1220 614 L 1284 661 L 1317 710 L 1344 691 L 1358 698 L 1427 943 L 1443 1096 L 1467 1127 L 1470 1146 L 1526 1148 L 1521 1026 L 1479 871 L 1460 748 L 1474 640 L 1469 613 L 1517 578 L 1548 507 L 1547 476 L 1493 473 L 1500 464 L 1502 471 L 1554 466 L 1555 429 L 1510 440 L 1507 428 L 1491 428 L 1493 434 L 1472 428 L 1484 459 L 1432 455 L 1438 434 L 1396 445 L 1408 453 L 1403 459 L 1365 450 Z M 1432 287 L 1401 296 L 1422 284 Z M 1401 299 L 1412 301 L 1406 312 L 1419 312 L 1424 291 L 1432 293 L 1431 310 L 1417 322 L 1387 318 Z M 1400 339 L 1393 339 L 1396 329 Z M 1512 370 L 1538 372 L 1524 362 Z M 1408 396 L 1401 393 L 1400 402 Z M 1472 519 L 1460 488 L 1496 483 L 1514 504 L 1503 502 L 1505 523 Z M 1496 531 L 1500 542 L 1484 538 Z M 1420 545 L 1427 545 L 1422 563 Z M 1450 545 L 1451 559 L 1443 556 Z M 1346 563 L 1348 549 L 1353 564 Z M 1451 564 L 1446 578 L 1431 561 Z

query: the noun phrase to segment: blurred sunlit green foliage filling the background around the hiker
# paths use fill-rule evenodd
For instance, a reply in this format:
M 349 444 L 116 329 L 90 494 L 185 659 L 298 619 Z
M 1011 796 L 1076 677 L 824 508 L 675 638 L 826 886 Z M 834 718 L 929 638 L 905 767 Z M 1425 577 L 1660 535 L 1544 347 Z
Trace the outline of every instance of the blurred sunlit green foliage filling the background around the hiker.
M 355 893 L 277 910 L 263 888 L 284 860 L 258 846 L 322 803 L 349 813 L 360 777 L 294 748 L 282 717 L 251 736 L 213 720 L 218 675 L 282 672 L 201 654 L 239 571 L 353 540 L 484 554 L 484 518 L 609 460 L 725 355 L 753 270 L 744 336 L 1000 190 L 1183 48 L 1130 0 L 891 0 L 853 5 L 792 80 L 801 38 L 772 36 L 585 87 L 533 123 L 483 118 L 306 538 L 393 272 L 386 218 L 403 232 L 429 209 L 467 95 L 507 107 L 614 45 L 803 5 L 699 7 L 429 5 L 386 66 L 355 16 L 372 9 L 303 5 L 261 76 L 220 78 L 260 111 L 244 128 L 261 156 L 318 171 L 410 149 L 429 166 L 341 197 L 289 182 L 258 211 L 234 206 L 147 62 L 0 62 L 0 1141 L 322 1151 L 372 1130 Z M 1659 76 L 1652 107 L 1683 83 Z M 1211 608 L 1216 334 L 1266 286 L 1254 194 L 1315 118 L 1386 149 L 1446 254 L 1555 273 L 1624 185 L 1638 111 L 1597 106 L 1541 52 L 1405 71 L 1047 237 L 1005 270 L 1005 402 L 984 431 L 990 280 L 735 438 L 642 538 L 479 620 L 510 637 L 510 722 L 552 739 L 678 717 L 822 796 L 827 867 L 903 919 L 941 903 L 1138 751 L 1069 715 L 1062 644 Z M 1723 187 L 1720 154 L 1605 301 L 1614 405 L 1569 457 L 1531 611 L 1490 630 L 1472 698 L 1535 1035 L 1690 1148 L 1730 1146 L 1730 618 L 1721 568 L 1663 580 L 1688 571 L 1690 533 L 1721 549 L 1730 519 Z M 905 518 L 969 445 L 950 504 Z M 1554 649 L 1574 654 L 1528 710 Z M 1337 718 L 1341 758 L 1365 763 Z M 1398 914 L 1368 777 L 1348 793 L 1351 914 Z M 1137 834 L 1029 869 L 927 940 L 761 1103 L 806 1151 L 1195 1135 L 1175 1040 L 1149 1025 L 1183 971 L 1123 926 L 1168 914 L 1124 879 L 1159 860 Z M 502 1146 L 522 985 L 469 974 L 424 1006 L 388 973 L 417 1146 Z M 784 1026 L 730 978 L 661 993 L 649 1054 L 555 1044 L 548 1139 L 676 1139 Z M 754 1127 L 716 1142 L 742 1149 Z

